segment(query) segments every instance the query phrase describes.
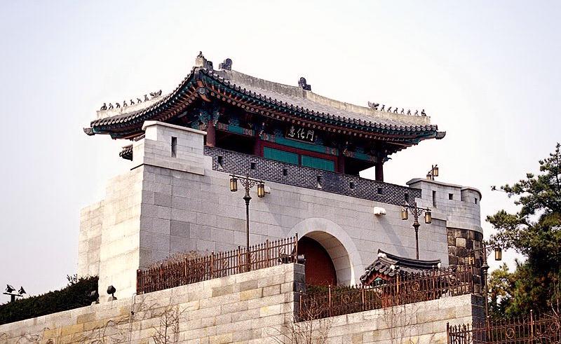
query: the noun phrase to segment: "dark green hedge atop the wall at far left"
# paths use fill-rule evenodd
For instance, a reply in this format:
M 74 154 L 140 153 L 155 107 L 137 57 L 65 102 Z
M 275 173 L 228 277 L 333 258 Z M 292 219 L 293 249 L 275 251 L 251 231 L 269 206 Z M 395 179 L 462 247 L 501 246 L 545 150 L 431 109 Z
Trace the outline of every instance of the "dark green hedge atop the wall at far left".
M 0 305 L 0 324 L 90 305 L 92 300 L 89 295 L 93 290 L 97 290 L 97 276 L 69 278 L 68 286 L 63 289 Z

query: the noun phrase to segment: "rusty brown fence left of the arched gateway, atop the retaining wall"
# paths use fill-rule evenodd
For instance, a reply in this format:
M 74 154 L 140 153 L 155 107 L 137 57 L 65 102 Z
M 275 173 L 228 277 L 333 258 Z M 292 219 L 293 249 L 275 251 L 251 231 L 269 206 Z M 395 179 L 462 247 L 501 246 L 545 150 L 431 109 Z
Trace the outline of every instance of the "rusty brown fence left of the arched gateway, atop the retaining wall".
M 162 263 L 148 270 L 137 270 L 137 294 L 149 293 L 212 278 L 270 268 L 283 263 L 295 263 L 298 237 L 263 242 L 250 247 L 239 247 L 228 252 L 208 254 L 179 262 Z

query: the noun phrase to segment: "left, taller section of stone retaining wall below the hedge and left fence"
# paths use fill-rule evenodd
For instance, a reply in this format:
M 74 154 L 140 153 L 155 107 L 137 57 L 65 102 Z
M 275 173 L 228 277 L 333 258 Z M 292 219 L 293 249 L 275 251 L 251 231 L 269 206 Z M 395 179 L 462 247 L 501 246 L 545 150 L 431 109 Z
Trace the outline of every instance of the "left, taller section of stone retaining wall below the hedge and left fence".
M 274 343 L 302 282 L 284 264 L 4 324 L 0 343 Z

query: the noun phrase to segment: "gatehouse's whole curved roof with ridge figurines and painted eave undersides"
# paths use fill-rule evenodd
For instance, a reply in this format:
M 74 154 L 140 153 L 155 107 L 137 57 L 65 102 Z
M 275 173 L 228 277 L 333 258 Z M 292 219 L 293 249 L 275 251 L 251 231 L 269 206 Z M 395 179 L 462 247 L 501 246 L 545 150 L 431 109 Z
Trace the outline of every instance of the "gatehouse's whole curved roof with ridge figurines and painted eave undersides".
M 341 136 L 340 140 L 359 140 L 367 150 L 367 146 L 383 146 L 379 152 L 384 156 L 443 135 L 437 135 L 438 127 L 430 123 L 428 116 L 400 115 L 397 107 L 390 106 L 386 110 L 386 106 L 380 107 L 379 103 L 358 106 L 329 99 L 313 93 L 304 77 L 299 79 L 298 86 L 291 86 L 235 71 L 231 69 L 231 59 L 224 60 L 220 67 L 212 69 L 212 62 L 199 53 L 195 66 L 175 90 L 167 95 L 161 90 L 150 92 L 142 99 L 147 104 L 98 116 L 91 121 L 90 132 L 111 135 L 114 139 L 135 139 L 144 134 L 144 121 L 184 123 L 182 125 L 202 121 L 204 124 L 208 119 L 199 118 L 201 106 L 222 106 L 252 113 L 255 123 L 266 121 L 278 128 L 284 123 L 295 123 L 302 130 L 313 128 L 320 136 L 335 133 Z M 109 104 L 108 109 L 111 106 Z M 121 107 L 121 104 L 115 106 Z M 386 115 L 395 110 L 393 116 Z

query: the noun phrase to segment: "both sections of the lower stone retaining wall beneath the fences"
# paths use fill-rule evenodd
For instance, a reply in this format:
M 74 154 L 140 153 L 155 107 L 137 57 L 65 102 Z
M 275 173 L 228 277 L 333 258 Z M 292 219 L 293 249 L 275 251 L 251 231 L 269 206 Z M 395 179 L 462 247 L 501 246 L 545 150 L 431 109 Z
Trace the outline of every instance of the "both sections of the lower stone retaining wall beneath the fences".
M 327 343 L 446 343 L 447 322 L 473 320 L 464 295 L 294 327 L 303 282 L 299 264 L 250 271 L 4 324 L 0 343 L 291 343 L 293 328 Z

